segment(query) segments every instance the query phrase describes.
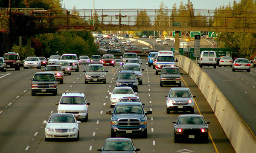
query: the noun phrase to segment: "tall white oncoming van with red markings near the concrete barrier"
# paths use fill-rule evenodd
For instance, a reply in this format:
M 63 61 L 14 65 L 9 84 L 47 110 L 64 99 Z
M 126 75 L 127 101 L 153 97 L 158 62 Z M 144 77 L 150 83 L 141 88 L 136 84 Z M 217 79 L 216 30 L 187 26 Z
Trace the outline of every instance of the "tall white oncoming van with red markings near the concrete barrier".
M 156 59 L 156 75 L 158 72 L 161 72 L 164 66 L 172 66 L 175 65 L 175 58 L 173 51 L 158 51 L 157 59 Z

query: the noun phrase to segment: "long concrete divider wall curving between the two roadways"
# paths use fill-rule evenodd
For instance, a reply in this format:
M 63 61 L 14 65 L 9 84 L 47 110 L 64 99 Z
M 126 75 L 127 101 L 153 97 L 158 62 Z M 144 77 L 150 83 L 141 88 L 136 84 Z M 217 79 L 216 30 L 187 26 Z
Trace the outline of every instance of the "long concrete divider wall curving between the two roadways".
M 256 139 L 207 73 L 188 57 L 176 58 L 177 66 L 189 74 L 204 94 L 236 153 L 256 153 Z

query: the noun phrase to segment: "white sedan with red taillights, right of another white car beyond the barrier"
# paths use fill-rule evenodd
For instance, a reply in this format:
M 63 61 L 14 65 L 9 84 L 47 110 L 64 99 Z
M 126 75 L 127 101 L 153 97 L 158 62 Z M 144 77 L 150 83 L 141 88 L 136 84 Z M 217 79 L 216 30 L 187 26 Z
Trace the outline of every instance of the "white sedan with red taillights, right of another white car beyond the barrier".
M 249 60 L 245 58 L 235 59 L 232 65 L 232 71 L 235 72 L 236 70 L 246 70 L 247 72 L 250 72 Z

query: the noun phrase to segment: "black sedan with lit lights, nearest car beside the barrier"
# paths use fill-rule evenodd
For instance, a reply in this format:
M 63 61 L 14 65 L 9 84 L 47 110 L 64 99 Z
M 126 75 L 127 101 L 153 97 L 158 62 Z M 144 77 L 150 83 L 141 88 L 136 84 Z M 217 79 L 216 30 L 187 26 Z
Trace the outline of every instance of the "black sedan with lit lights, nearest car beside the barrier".
M 209 127 L 201 115 L 180 115 L 174 123 L 174 142 L 180 140 L 199 140 L 209 143 Z

